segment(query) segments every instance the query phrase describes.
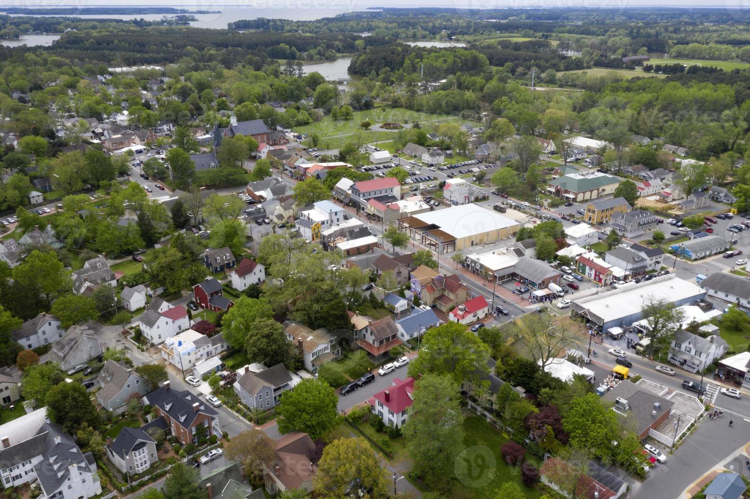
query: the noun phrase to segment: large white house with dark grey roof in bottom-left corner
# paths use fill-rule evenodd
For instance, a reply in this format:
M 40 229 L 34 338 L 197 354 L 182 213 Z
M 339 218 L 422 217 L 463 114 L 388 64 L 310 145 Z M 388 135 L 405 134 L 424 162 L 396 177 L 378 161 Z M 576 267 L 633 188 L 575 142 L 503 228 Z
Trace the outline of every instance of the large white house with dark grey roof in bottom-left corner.
M 62 426 L 46 422 L 26 440 L 4 445 L 0 478 L 5 489 L 36 482 L 43 499 L 92 498 L 102 490 L 92 453 L 81 452 Z

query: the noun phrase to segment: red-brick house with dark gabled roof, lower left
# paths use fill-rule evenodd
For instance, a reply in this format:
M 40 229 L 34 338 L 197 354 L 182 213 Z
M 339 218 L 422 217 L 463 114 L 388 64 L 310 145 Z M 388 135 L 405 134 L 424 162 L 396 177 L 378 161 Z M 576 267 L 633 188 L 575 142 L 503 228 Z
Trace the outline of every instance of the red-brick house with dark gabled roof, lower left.
M 198 444 L 199 438 L 221 436 L 219 413 L 202 397 L 187 390 L 172 390 L 169 381 L 144 396 L 145 402 L 163 417 L 172 436 L 182 445 Z

